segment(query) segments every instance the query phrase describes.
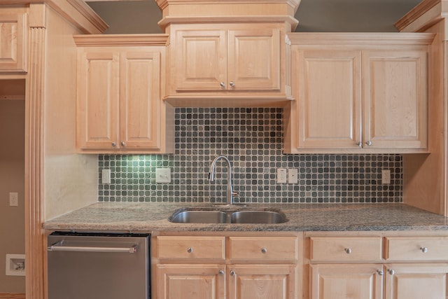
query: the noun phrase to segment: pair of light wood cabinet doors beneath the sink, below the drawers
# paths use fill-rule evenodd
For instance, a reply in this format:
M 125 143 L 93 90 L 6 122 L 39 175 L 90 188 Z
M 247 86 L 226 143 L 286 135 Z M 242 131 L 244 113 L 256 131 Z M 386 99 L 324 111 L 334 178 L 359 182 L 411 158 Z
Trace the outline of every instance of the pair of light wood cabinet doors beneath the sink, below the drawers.
M 295 299 L 295 272 L 294 265 L 158 265 L 158 298 Z

